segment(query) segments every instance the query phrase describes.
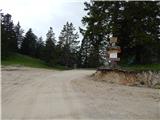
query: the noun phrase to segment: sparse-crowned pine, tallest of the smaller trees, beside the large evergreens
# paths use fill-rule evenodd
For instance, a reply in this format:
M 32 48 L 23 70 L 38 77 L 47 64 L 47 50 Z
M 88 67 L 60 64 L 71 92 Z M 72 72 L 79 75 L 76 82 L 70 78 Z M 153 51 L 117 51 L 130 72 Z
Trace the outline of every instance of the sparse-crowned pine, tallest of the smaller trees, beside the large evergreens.
M 59 36 L 58 46 L 61 49 L 59 63 L 67 67 L 73 67 L 77 63 L 77 52 L 79 49 L 78 33 L 72 23 L 66 23 Z

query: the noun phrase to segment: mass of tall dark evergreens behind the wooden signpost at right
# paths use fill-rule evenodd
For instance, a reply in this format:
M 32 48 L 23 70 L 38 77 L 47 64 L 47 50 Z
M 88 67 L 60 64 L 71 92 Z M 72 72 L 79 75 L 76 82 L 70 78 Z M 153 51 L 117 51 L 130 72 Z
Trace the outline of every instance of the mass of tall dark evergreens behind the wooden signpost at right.
M 90 2 L 85 3 L 87 15 L 80 29 L 82 66 L 103 64 L 105 47 L 110 36 L 118 37 L 121 59 L 127 64 L 159 63 L 160 2 Z

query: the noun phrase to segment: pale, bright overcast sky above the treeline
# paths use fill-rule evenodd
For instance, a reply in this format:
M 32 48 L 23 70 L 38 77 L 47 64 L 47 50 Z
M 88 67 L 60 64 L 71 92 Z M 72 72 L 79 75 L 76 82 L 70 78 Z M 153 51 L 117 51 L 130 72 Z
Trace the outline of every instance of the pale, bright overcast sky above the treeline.
M 81 19 L 86 15 L 84 1 L 87 0 L 1 0 L 0 9 L 10 13 L 15 24 L 19 21 L 25 32 L 32 28 L 38 37 L 45 40 L 49 27 L 53 27 L 58 39 L 67 21 L 72 22 L 79 32 Z

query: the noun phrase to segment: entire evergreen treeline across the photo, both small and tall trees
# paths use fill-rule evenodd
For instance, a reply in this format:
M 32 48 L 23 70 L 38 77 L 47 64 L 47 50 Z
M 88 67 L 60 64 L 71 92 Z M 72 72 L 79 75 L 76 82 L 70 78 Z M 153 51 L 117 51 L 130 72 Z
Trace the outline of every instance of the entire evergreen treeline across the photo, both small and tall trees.
M 106 64 L 111 36 L 118 37 L 122 64 L 160 63 L 159 1 L 91 1 L 85 2 L 82 19 L 82 42 L 72 22 L 67 22 L 55 38 L 54 28 L 46 40 L 30 28 L 25 35 L 20 23 L 14 25 L 10 14 L 1 13 L 1 56 L 18 52 L 39 58 L 49 66 L 99 67 Z

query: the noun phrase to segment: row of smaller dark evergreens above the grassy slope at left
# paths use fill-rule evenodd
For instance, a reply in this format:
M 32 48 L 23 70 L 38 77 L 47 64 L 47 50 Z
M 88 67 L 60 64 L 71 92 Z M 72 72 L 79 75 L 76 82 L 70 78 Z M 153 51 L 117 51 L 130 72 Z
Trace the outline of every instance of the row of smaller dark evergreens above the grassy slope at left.
M 18 22 L 14 26 L 10 14 L 1 13 L 2 32 L 2 59 L 9 57 L 12 53 L 18 52 L 33 58 L 39 58 L 46 62 L 48 66 L 62 65 L 73 68 L 77 64 L 78 54 L 78 33 L 72 23 L 67 22 L 57 42 L 53 28 L 50 27 L 46 40 L 38 38 L 30 28 L 25 35 Z

